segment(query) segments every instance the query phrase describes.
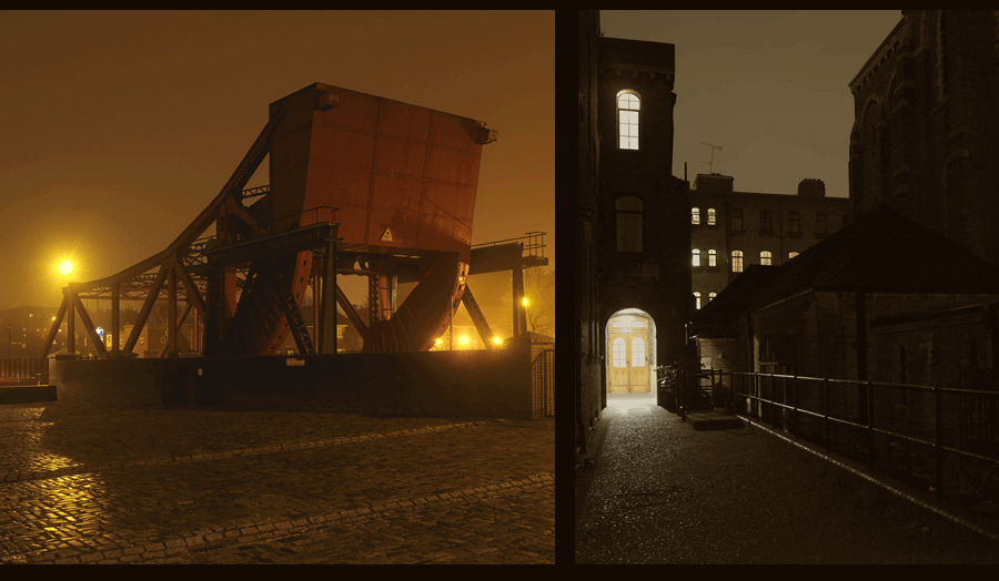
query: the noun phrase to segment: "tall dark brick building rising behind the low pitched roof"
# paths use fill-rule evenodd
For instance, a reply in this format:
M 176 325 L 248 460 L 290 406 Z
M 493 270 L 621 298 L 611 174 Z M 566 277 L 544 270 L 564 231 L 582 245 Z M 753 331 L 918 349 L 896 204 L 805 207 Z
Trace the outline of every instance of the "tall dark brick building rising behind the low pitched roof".
M 902 10 L 849 86 L 855 214 L 887 203 L 999 264 L 999 11 Z

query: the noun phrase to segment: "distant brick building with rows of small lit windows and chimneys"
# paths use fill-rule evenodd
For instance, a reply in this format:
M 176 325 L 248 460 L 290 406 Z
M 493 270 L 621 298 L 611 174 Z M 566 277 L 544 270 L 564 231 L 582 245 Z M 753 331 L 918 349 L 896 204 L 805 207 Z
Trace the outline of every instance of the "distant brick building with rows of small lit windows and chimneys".
M 692 289 L 696 308 L 750 264 L 780 265 L 849 223 L 851 203 L 826 197 L 821 180 L 797 195 L 736 192 L 731 176 L 697 174 L 690 190 Z

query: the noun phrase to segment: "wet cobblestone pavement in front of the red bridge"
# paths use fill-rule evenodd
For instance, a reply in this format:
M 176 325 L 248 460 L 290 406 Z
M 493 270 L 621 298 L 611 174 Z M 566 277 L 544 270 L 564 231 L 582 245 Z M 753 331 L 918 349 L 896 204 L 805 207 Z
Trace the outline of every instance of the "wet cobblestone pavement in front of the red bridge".
M 554 563 L 555 422 L 0 407 L 0 562 Z

